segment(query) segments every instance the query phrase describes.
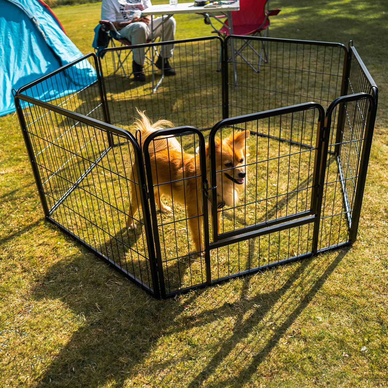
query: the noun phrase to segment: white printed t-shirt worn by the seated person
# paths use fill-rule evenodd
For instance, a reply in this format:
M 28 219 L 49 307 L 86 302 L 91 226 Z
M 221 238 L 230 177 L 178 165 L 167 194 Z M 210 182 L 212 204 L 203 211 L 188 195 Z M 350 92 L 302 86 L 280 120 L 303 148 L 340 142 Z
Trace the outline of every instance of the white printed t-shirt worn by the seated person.
M 136 11 L 151 7 L 150 0 L 102 0 L 101 20 L 111 22 L 130 22 Z

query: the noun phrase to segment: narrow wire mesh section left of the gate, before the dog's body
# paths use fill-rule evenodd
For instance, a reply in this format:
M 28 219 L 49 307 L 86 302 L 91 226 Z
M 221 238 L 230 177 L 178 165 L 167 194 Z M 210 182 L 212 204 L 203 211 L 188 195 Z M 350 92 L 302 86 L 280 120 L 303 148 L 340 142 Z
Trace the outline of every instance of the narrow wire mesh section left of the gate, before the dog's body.
M 190 127 L 158 131 L 145 139 L 144 161 L 161 294 L 205 284 L 210 279 L 204 137 Z

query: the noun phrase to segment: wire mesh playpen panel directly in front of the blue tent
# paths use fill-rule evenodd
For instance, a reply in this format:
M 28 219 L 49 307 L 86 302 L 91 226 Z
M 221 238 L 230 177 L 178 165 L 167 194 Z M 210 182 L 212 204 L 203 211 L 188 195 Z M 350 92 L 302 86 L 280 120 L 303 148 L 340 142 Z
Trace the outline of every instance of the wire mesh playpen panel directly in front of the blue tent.
M 19 88 L 17 94 L 106 121 L 101 91 L 97 57 L 87 54 Z M 23 100 L 20 103 L 23 106 Z

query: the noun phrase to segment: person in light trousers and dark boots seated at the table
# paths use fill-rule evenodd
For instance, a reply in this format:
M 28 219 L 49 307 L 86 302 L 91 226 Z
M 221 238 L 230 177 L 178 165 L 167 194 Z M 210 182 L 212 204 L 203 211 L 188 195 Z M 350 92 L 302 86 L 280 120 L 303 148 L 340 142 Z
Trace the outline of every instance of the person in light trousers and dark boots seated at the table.
M 120 35 L 128 39 L 132 45 L 147 43 L 151 39 L 151 16 L 141 17 L 140 12 L 151 7 L 151 0 L 102 0 L 101 20 L 109 20 L 116 27 Z M 165 22 L 162 24 L 163 18 Z M 163 41 L 174 40 L 175 19 L 160 16 L 153 20 L 154 38 L 161 37 Z M 165 75 L 175 75 L 169 58 L 173 55 L 174 46 L 161 46 L 157 68 L 164 68 Z M 144 47 L 133 49 L 132 71 L 135 81 L 145 81 L 143 72 Z

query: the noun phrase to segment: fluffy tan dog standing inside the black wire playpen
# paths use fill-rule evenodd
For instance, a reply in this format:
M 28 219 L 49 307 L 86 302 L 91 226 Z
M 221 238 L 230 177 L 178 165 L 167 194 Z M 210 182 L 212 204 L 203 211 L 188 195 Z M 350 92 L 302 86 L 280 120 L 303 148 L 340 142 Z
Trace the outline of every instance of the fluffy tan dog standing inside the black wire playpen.
M 144 113 L 139 112 L 140 120 L 135 121 L 137 128 L 141 132 L 141 144 L 143 148 L 144 140 L 153 132 L 173 126 L 170 121 L 159 120 L 151 124 Z M 217 172 L 217 208 L 223 206 L 236 206 L 238 202 L 239 190 L 245 186 L 245 151 L 246 139 L 249 131 L 235 131 L 225 139 L 215 139 L 215 161 Z M 159 139 L 159 137 L 156 137 Z M 206 145 L 206 171 L 209 170 L 209 147 Z M 155 202 L 162 213 L 170 211 L 170 206 L 166 206 L 161 195 L 173 198 L 173 201 L 182 203 L 186 208 L 187 223 L 194 242 L 196 253 L 203 253 L 204 245 L 202 241 L 202 185 L 201 172 L 199 167 L 199 155 L 187 154 L 175 137 L 155 140 L 149 145 L 151 158 L 152 182 L 154 184 Z M 138 182 L 136 169 L 132 170 L 131 180 Z M 131 186 L 131 206 L 128 212 L 126 225 L 133 229 L 133 215 L 139 210 L 139 185 L 130 182 Z M 210 209 L 210 202 L 208 201 Z M 218 233 L 220 233 L 220 211 L 218 215 Z

